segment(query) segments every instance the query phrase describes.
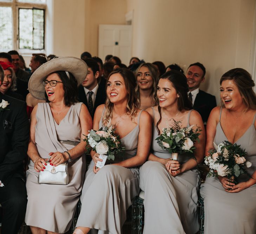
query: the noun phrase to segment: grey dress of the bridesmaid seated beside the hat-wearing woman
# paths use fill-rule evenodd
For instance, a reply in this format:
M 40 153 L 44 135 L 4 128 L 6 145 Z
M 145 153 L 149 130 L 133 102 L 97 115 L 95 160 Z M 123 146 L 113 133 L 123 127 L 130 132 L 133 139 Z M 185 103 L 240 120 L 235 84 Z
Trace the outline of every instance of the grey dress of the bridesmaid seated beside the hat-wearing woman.
M 105 108 L 103 113 L 104 111 Z M 136 155 L 141 112 L 138 116 L 138 125 L 122 138 L 122 145 L 125 147 L 124 158 L 115 157 L 114 162 Z M 102 126 L 101 116 L 99 128 Z M 114 162 L 107 160 L 106 164 Z M 132 205 L 132 199 L 139 193 L 139 169 L 105 165 L 94 174 L 93 167 L 92 160 L 85 175 L 80 198 L 81 213 L 76 226 L 98 229 L 98 233 L 120 234 L 126 220 L 126 210 Z M 91 230 L 91 233 L 95 233 L 95 230 Z

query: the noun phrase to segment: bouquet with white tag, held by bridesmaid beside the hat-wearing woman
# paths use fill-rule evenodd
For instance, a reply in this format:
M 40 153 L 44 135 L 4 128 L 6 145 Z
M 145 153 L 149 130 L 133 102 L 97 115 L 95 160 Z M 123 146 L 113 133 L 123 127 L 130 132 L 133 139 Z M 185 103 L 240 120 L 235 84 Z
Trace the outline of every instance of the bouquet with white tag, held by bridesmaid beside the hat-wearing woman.
M 115 130 L 115 125 L 108 123 L 104 129 L 100 128 L 98 131 L 91 130 L 85 136 L 84 141 L 86 141 L 87 146 L 90 146 L 87 148 L 87 152 L 90 152 L 92 149 L 103 160 L 102 162 L 98 161 L 96 167 L 103 167 L 107 159 L 114 160 L 114 155 L 124 155 L 125 148 L 121 146 L 121 140 L 114 133 Z

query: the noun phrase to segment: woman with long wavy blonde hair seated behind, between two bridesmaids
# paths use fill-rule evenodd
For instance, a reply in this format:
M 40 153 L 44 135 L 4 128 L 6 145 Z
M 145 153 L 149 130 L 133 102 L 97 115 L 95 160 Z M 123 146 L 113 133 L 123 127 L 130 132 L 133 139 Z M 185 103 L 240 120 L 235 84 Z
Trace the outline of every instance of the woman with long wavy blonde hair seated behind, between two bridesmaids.
M 138 96 L 140 109 L 147 109 L 158 104 L 157 82 L 158 73 L 152 63 L 142 63 L 136 71 L 136 93 Z

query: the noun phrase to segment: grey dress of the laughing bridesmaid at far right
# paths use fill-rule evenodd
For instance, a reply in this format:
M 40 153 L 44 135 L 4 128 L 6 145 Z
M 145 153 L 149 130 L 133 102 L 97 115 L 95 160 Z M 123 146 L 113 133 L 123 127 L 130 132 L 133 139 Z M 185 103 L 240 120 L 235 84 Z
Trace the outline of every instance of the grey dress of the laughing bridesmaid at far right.
M 222 111 L 222 109 L 221 109 Z M 216 126 L 214 142 L 227 141 L 221 128 L 221 111 Z M 252 163 L 247 171 L 252 175 L 256 169 L 256 114 L 251 126 L 235 143 L 248 153 L 246 160 Z M 238 182 L 247 181 L 249 176 L 242 175 Z M 228 193 L 216 177 L 206 178 L 200 189 L 204 198 L 205 234 L 255 234 L 256 233 L 256 185 L 238 193 Z

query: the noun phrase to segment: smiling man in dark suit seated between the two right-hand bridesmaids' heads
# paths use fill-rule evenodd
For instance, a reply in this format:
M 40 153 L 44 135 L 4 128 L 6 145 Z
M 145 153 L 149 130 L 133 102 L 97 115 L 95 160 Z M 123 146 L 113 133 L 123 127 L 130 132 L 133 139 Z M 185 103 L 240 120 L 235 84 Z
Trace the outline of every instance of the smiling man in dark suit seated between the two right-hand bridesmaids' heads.
M 202 63 L 196 62 L 189 65 L 186 78 L 189 85 L 189 99 L 193 103 L 193 109 L 201 114 L 203 122 L 207 122 L 211 110 L 216 107 L 215 96 L 199 89 L 204 82 L 205 67 Z

